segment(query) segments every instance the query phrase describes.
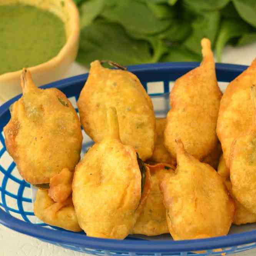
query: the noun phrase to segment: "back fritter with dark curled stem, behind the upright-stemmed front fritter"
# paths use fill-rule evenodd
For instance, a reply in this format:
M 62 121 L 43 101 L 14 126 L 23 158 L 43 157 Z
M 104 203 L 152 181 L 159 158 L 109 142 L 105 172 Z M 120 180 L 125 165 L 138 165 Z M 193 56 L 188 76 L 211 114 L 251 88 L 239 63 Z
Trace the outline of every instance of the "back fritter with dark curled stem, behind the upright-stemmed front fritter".
M 77 105 L 83 128 L 93 141 L 100 142 L 107 136 L 105 110 L 115 107 L 121 141 L 133 146 L 143 161 L 152 156 L 155 147 L 153 104 L 136 75 L 104 68 L 98 60 L 92 62 Z

